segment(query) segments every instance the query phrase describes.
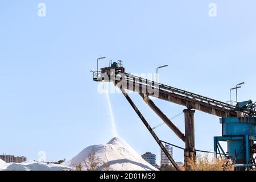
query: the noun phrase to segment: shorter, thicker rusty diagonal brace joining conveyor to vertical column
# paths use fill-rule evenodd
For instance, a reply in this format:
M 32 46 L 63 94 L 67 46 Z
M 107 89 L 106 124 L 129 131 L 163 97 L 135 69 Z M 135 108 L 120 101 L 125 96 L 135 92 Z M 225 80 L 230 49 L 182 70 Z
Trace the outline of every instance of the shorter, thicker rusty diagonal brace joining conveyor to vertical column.
M 183 142 L 185 142 L 185 135 L 174 125 L 174 123 L 171 122 L 171 120 L 154 104 L 154 102 L 147 96 L 147 94 L 139 94 L 142 98 L 143 101 L 146 102 L 146 104 L 148 106 L 150 106 L 150 108 L 163 120 L 164 123 L 166 123 L 166 125 L 168 127 L 170 127 L 170 129 L 172 131 L 174 131 L 174 133 L 177 135 L 177 137 L 179 137 L 181 140 L 183 140 Z

